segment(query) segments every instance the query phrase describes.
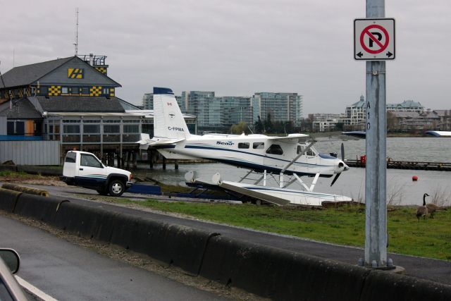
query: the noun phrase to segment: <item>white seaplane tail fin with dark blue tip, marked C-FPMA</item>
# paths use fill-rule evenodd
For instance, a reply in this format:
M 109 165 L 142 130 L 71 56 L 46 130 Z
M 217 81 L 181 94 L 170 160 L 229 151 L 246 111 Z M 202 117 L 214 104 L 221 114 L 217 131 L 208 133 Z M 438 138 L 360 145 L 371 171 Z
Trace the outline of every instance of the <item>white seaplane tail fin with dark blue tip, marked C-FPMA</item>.
M 154 87 L 154 139 L 185 139 L 190 131 L 171 89 Z

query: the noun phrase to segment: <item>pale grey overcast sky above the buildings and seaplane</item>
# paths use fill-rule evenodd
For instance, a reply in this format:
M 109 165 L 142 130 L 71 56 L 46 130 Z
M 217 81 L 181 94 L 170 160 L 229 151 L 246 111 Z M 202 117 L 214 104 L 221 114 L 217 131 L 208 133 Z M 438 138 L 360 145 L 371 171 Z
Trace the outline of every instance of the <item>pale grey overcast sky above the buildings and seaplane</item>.
M 75 54 L 106 55 L 116 96 L 154 86 L 217 96 L 297 92 L 307 113 L 344 113 L 365 94 L 353 55 L 364 0 L 0 0 L 0 70 Z M 387 103 L 451 109 L 451 1 L 385 1 L 396 20 Z M 14 56 L 13 56 L 14 53 Z

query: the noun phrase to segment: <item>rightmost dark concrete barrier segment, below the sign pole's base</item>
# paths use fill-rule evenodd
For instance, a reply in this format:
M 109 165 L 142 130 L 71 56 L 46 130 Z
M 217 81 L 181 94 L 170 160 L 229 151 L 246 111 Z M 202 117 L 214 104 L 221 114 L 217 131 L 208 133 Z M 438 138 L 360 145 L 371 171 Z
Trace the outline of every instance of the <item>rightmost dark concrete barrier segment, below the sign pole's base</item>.
M 386 271 L 371 271 L 360 297 L 362 301 L 451 300 L 451 286 Z

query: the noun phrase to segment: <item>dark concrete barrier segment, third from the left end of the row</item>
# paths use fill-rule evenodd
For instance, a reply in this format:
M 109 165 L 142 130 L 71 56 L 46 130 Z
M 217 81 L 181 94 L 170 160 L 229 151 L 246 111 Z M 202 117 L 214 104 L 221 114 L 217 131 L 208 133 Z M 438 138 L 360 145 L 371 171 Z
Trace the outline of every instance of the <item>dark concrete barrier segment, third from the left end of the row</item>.
M 52 224 L 84 238 L 109 242 L 117 223 L 117 215 L 105 209 L 69 202 L 61 204 Z

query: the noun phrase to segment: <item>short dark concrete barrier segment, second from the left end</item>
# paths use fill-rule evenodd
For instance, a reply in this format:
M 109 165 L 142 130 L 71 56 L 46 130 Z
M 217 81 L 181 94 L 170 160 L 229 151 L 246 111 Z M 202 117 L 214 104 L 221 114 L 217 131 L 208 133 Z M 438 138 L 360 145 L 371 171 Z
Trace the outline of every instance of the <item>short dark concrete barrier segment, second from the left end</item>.
M 46 223 L 51 223 L 54 221 L 56 211 L 62 202 L 69 201 L 23 193 L 18 197 L 13 212 L 23 216 L 34 217 L 35 219 L 39 219 Z

